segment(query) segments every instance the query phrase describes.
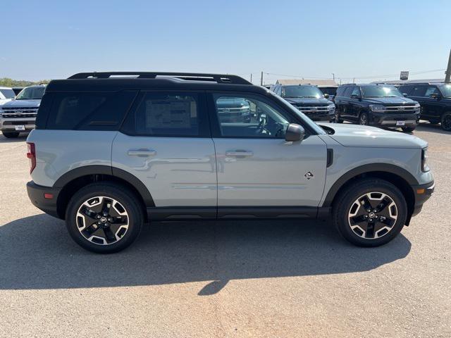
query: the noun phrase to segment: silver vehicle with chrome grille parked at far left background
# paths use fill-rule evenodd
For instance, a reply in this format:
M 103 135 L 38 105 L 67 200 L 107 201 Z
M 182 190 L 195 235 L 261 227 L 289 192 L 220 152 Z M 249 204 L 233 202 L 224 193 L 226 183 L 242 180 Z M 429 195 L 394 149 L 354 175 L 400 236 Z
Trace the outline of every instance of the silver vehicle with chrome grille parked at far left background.
M 4 137 L 18 137 L 20 132 L 30 132 L 35 128 L 44 90 L 44 85 L 26 87 L 16 99 L 0 106 L 0 130 Z

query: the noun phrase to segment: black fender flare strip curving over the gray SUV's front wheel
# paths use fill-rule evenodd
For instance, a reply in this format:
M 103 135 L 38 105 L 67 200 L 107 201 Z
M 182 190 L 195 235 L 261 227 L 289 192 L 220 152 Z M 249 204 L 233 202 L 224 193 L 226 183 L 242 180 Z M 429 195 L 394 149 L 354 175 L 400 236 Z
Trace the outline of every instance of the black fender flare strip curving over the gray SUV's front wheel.
M 364 173 L 371 172 L 379 172 L 379 173 L 390 173 L 402 177 L 409 185 L 419 184 L 418 180 L 409 173 L 404 168 L 401 168 L 397 165 L 388 164 L 388 163 L 370 163 L 360 165 L 359 167 L 353 168 L 345 175 L 342 175 L 333 185 L 330 187 L 326 199 L 324 200 L 323 206 L 332 206 L 333 199 L 338 191 L 345 185 L 349 180 L 358 175 L 362 175 Z

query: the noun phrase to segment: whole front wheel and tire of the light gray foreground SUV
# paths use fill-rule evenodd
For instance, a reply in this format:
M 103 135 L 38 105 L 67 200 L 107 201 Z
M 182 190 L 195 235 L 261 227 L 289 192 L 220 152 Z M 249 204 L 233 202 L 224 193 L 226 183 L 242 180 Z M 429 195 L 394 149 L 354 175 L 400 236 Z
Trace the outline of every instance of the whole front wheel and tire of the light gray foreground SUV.
M 345 188 L 335 201 L 335 227 L 342 237 L 357 246 L 380 246 L 390 242 L 401 232 L 407 219 L 404 196 L 397 187 L 385 180 L 358 180 Z M 385 206 L 382 208 L 383 204 Z M 370 222 L 371 217 L 373 222 Z

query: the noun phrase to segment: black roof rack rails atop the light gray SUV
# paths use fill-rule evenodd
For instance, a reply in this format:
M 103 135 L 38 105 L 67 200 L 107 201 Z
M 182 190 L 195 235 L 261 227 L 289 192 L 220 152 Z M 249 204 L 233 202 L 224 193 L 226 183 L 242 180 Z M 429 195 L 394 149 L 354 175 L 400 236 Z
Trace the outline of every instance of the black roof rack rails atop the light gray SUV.
M 237 75 L 228 74 L 207 74 L 207 73 L 166 73 L 166 72 L 92 72 L 74 74 L 68 79 L 108 79 L 117 76 L 135 76 L 139 79 L 154 79 L 160 77 L 177 77 L 181 80 L 190 81 L 212 81 L 230 84 L 252 84 L 251 82 Z

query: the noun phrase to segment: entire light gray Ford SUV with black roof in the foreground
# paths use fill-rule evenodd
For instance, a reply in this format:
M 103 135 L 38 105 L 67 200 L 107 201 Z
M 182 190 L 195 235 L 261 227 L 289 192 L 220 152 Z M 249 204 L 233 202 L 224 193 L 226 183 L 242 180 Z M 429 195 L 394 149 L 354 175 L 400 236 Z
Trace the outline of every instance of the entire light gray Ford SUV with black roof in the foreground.
M 227 102 L 249 119 L 221 118 Z M 316 125 L 233 75 L 51 81 L 27 145 L 32 203 L 100 253 L 124 249 L 154 220 L 332 218 L 348 241 L 378 246 L 434 189 L 422 139 Z

